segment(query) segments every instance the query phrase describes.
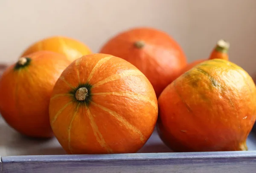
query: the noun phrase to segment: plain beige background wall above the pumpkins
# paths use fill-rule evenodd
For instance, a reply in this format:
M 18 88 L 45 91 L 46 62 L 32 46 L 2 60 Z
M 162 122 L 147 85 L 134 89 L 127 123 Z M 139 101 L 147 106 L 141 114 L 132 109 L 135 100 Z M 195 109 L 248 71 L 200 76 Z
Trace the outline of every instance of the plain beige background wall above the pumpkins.
M 97 52 L 108 38 L 134 26 L 168 32 L 189 61 L 207 58 L 220 38 L 230 60 L 256 72 L 256 0 L 0 0 L 0 62 L 30 43 L 66 35 Z

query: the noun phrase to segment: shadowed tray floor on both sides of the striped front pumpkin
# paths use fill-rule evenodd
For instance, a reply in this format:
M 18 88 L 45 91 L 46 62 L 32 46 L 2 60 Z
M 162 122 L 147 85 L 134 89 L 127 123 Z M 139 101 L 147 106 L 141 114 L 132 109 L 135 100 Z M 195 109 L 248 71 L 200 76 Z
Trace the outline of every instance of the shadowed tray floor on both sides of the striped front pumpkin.
M 168 152 L 172 152 L 172 150 L 163 144 L 156 131 L 154 131 L 143 148 L 138 151 L 138 153 Z M 56 138 L 40 140 L 26 138 L 10 128 L 0 117 L 0 155 L 2 157 L 64 154 L 66 153 Z

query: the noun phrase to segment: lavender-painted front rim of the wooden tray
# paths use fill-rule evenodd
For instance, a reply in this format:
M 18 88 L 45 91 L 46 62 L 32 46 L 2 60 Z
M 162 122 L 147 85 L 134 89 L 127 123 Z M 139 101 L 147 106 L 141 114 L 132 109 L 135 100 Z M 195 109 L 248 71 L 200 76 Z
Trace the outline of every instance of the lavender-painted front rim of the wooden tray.
M 253 173 L 256 151 L 6 156 L 3 173 Z

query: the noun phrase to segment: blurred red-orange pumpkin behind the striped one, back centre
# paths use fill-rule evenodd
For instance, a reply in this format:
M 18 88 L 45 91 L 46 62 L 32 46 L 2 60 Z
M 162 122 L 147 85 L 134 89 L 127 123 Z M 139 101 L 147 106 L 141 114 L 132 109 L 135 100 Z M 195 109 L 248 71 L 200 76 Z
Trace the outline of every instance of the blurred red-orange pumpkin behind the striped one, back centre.
M 157 97 L 187 65 L 179 44 L 153 28 L 134 28 L 112 37 L 100 50 L 136 66 L 148 78 Z

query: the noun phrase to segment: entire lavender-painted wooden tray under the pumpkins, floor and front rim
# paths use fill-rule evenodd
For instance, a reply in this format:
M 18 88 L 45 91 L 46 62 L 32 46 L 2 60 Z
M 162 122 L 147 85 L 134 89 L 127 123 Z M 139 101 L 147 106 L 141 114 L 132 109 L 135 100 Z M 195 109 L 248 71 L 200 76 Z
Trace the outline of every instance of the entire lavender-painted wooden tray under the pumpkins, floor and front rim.
M 0 123 L 0 173 L 256 173 L 255 133 L 250 151 L 171 153 L 154 132 L 138 153 L 65 155 L 55 139 L 23 138 Z

